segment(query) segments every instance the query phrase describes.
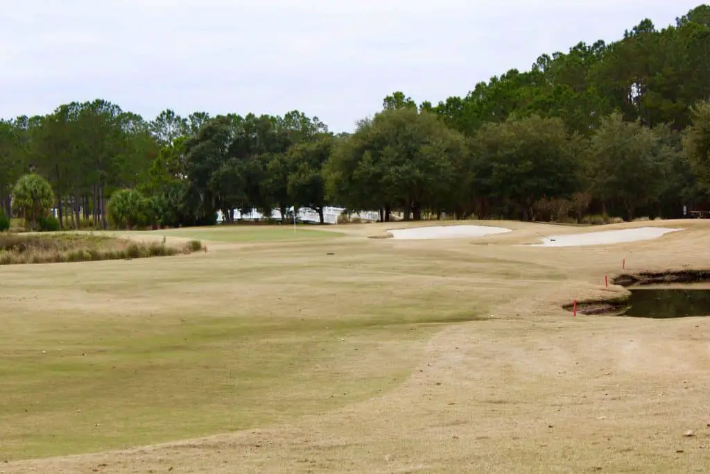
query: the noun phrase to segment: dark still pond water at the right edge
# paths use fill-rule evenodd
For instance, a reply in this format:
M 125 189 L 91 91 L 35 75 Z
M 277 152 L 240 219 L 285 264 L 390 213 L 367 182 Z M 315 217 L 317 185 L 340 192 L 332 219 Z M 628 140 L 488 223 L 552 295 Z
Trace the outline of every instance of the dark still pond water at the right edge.
M 710 316 L 710 289 L 632 289 L 621 316 L 635 318 L 684 318 Z

